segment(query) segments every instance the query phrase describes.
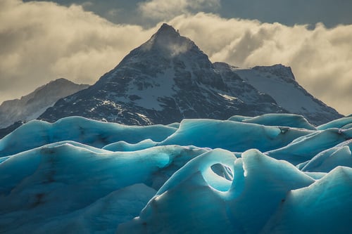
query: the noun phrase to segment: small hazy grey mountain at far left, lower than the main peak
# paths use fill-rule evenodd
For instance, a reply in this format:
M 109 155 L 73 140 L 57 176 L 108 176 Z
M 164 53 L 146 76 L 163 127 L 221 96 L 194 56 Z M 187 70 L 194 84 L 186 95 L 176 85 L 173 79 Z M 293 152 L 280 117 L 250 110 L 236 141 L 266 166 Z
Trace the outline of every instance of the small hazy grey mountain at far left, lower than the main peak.
M 6 100 L 0 105 L 0 128 L 6 128 L 18 121 L 37 119 L 58 99 L 87 87 L 87 84 L 75 84 L 61 78 L 40 86 L 20 99 Z

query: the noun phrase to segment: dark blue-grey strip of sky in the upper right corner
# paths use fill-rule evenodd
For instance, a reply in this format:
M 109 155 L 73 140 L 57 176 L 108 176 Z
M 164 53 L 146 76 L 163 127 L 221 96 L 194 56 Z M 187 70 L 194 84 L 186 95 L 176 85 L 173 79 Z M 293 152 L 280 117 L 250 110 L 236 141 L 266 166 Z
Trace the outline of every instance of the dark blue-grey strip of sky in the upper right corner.
M 323 22 L 327 27 L 352 23 L 352 1 L 348 0 L 222 0 L 224 18 L 256 19 L 284 25 Z

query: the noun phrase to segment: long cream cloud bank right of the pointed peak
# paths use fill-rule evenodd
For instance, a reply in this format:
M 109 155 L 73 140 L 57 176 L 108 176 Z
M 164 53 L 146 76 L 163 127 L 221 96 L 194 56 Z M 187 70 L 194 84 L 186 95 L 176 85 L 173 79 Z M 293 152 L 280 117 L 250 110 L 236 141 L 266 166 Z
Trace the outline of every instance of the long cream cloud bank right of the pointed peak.
M 289 65 L 299 84 L 339 112 L 352 113 L 352 25 L 288 27 L 198 13 L 170 20 L 210 60 L 240 67 Z

